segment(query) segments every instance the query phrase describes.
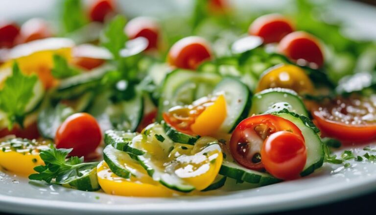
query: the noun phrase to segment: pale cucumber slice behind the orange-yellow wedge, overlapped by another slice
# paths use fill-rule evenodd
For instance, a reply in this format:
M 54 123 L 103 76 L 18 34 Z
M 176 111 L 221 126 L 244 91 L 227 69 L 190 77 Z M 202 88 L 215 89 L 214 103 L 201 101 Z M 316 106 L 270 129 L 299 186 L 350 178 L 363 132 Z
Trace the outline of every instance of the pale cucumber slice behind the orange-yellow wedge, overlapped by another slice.
M 192 103 L 198 96 L 207 96 L 212 92 L 215 85 L 221 80 L 221 76 L 214 73 L 198 73 L 187 70 L 175 70 L 166 75 L 161 88 L 157 120 L 162 120 L 162 114 L 176 105 Z M 183 84 L 192 83 L 194 88 L 189 87 L 185 91 L 179 89 Z M 179 92 L 177 92 L 179 89 Z M 187 94 L 192 94 L 187 99 Z

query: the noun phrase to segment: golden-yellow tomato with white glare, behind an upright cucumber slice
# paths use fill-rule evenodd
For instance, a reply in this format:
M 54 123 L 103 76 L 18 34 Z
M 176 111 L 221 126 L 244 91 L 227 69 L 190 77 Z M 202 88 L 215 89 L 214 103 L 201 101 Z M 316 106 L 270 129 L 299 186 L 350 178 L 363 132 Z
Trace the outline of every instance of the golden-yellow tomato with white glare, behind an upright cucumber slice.
M 305 71 L 295 65 L 277 65 L 270 68 L 258 81 L 256 92 L 269 88 L 287 88 L 298 94 L 312 94 L 314 86 Z

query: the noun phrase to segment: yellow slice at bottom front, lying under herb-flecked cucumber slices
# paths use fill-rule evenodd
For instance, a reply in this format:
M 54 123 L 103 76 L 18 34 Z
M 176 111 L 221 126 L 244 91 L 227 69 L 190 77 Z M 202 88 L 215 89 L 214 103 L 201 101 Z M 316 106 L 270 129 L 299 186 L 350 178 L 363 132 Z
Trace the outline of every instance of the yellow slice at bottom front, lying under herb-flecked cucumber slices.
M 113 195 L 140 197 L 168 197 L 173 195 L 174 191 L 154 181 L 142 167 L 139 171 L 145 173 L 141 178 L 133 175 L 129 179 L 121 178 L 110 170 L 106 162 L 102 161 L 97 167 L 98 183 L 103 191 Z

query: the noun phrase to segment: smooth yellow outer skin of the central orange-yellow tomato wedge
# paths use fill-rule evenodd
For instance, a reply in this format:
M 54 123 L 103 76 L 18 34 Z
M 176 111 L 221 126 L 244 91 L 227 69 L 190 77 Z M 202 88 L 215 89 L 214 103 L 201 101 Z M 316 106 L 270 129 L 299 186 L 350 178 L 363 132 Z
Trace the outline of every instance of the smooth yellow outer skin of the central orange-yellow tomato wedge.
M 200 136 L 211 136 L 221 127 L 227 116 L 226 99 L 218 96 L 215 102 L 207 107 L 190 126 L 193 133 Z

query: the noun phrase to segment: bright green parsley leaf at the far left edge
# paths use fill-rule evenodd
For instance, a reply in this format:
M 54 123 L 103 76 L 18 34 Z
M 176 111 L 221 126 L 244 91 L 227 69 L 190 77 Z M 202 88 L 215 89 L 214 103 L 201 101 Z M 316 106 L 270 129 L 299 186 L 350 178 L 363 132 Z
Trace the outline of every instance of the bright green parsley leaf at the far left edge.
M 36 75 L 26 76 L 17 63 L 13 64 L 13 73 L 5 80 L 4 87 L 0 91 L 0 109 L 8 116 L 9 130 L 13 128 L 14 122 L 23 127 L 25 108 L 34 96 L 33 89 L 37 81 Z

